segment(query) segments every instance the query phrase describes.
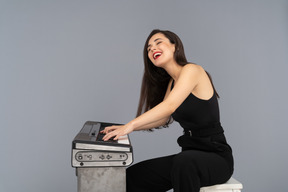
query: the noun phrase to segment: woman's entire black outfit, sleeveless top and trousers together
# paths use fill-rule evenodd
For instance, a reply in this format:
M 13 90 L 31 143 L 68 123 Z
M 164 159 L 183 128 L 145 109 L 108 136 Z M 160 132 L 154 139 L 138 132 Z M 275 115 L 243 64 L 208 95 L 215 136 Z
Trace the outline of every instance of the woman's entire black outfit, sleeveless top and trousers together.
M 220 124 L 215 90 L 209 100 L 191 93 L 172 117 L 184 129 L 177 140 L 182 152 L 129 167 L 127 192 L 199 192 L 232 176 L 232 149 Z

